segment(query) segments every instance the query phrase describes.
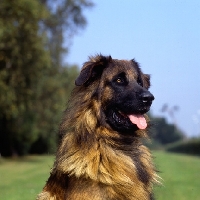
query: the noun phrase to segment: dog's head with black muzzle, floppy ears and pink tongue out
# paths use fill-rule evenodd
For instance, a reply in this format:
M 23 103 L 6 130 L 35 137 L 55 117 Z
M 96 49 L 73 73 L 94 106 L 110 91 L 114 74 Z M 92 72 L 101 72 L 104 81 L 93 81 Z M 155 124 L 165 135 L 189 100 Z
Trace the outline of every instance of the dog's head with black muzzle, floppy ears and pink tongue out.
M 85 88 L 96 85 L 94 96 L 112 129 L 123 133 L 146 129 L 144 114 L 149 111 L 154 96 L 148 91 L 150 76 L 142 73 L 135 60 L 91 57 L 75 84 Z

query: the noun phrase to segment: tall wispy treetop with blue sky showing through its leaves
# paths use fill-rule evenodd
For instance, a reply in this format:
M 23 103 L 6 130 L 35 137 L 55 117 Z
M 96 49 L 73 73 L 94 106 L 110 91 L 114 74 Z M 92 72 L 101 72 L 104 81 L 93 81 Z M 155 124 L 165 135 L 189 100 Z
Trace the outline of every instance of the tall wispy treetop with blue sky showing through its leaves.
M 53 65 L 63 67 L 63 53 L 66 55 L 73 35 L 86 25 L 83 15 L 85 8 L 93 3 L 89 0 L 41 0 L 50 11 L 50 16 L 44 21 L 43 29 L 48 34 L 48 49 L 51 53 Z M 64 39 L 65 35 L 65 39 Z M 65 45 L 64 45 L 65 44 Z

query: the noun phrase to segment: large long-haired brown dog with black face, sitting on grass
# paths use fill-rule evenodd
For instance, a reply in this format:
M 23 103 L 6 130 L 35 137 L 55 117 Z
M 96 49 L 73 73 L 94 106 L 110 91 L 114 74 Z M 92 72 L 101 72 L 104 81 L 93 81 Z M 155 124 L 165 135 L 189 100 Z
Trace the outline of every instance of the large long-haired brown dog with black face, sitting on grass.
M 37 200 L 152 200 L 159 176 L 142 144 L 154 100 L 150 76 L 134 59 L 99 54 L 84 63 L 75 85 Z

